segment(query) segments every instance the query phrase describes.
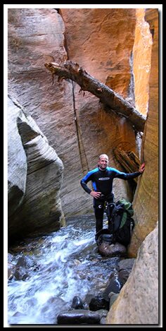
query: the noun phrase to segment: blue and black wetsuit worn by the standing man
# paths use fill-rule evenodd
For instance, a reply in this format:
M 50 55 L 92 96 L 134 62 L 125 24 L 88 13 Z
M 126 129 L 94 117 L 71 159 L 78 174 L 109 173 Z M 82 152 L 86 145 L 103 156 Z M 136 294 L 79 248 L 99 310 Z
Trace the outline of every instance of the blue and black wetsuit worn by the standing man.
M 99 168 L 93 169 L 87 173 L 81 180 L 81 186 L 84 191 L 91 193 L 91 189 L 87 186 L 89 181 L 92 182 L 93 190 L 101 192 L 106 198 L 94 198 L 94 214 L 96 217 L 96 233 L 103 229 L 103 212 L 104 203 L 107 200 L 108 203 L 113 203 L 113 179 L 119 178 L 127 181 L 128 179 L 134 179 L 141 175 L 141 172 L 136 171 L 130 174 L 118 171 L 117 169 L 106 167 L 105 170 Z

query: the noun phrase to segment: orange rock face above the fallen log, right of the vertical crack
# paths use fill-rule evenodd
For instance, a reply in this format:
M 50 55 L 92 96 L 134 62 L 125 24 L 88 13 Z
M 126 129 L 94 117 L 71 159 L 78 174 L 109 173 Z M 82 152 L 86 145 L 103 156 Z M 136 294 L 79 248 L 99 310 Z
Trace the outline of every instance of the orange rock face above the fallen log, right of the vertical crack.
M 129 97 L 136 10 L 61 9 L 61 13 L 69 58 Z

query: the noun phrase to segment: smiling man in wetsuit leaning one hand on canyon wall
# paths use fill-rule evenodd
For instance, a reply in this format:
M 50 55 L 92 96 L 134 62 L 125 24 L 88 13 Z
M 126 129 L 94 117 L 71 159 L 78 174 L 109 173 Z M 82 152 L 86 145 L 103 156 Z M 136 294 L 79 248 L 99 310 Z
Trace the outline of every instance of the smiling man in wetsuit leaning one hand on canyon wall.
M 113 195 L 113 179 L 119 178 L 124 179 L 134 179 L 141 174 L 145 169 L 145 164 L 143 163 L 139 168 L 139 171 L 126 174 L 115 168 L 108 167 L 108 155 L 101 154 L 98 157 L 98 167 L 89 171 L 80 181 L 84 191 L 89 193 L 94 198 L 94 215 L 96 217 L 96 236 L 98 231 L 103 229 L 103 212 L 104 212 L 104 203 L 106 200 L 108 203 L 114 202 Z M 91 190 L 87 183 L 91 181 L 93 189 Z

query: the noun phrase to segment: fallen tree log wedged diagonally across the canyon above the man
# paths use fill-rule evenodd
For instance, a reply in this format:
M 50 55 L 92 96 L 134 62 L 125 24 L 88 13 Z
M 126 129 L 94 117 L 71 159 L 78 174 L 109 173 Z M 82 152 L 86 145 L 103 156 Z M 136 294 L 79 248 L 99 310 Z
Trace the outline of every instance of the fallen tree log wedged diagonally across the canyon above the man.
M 96 95 L 103 104 L 107 104 L 110 109 L 117 114 L 125 116 L 136 131 L 143 131 L 146 117 L 140 114 L 132 104 L 123 99 L 118 93 L 108 88 L 107 85 L 100 83 L 96 78 L 90 76 L 87 71 L 77 63 L 66 61 L 64 64 L 48 63 L 44 66 L 51 71 L 52 76 L 59 78 L 69 78 L 74 80 L 82 90 L 89 91 Z

